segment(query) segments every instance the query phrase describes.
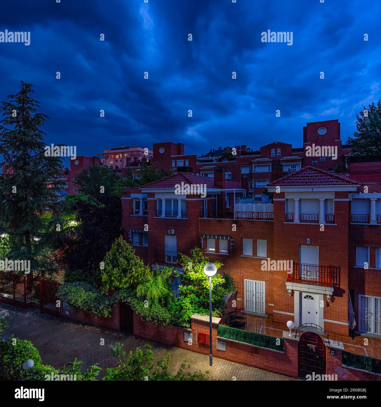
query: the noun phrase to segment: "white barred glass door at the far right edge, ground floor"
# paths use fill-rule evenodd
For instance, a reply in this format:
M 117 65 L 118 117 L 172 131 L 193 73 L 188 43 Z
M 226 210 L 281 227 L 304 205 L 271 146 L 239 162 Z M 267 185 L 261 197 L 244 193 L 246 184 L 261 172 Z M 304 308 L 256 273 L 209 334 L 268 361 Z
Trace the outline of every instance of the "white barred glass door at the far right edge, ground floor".
M 381 298 L 359 295 L 360 330 L 381 334 Z

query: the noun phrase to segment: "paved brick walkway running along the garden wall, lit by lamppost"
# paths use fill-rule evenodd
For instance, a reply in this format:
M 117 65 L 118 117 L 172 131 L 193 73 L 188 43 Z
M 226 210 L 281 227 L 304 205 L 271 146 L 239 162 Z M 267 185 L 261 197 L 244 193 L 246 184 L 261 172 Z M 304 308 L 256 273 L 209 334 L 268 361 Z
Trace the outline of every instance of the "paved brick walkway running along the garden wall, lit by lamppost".
M 9 323 L 3 339 L 13 334 L 16 338 L 31 341 L 40 351 L 42 362 L 55 368 L 77 357 L 83 362 L 85 369 L 98 363 L 102 368 L 99 376 L 102 377 L 106 373 L 106 368 L 118 365 L 117 359 L 110 353 L 109 346 L 115 342 L 122 342 L 126 352 L 134 351 L 138 346 L 143 348 L 145 344 L 150 344 L 157 359 L 164 359 L 170 352 L 169 370 L 171 372 L 176 372 L 186 359 L 191 365 L 190 371 L 209 370 L 209 377 L 218 380 L 295 380 L 281 374 L 217 358 L 213 359 L 213 366 L 210 367 L 207 355 L 163 346 L 125 333 L 51 317 L 40 314 L 39 310 L 33 308 L 22 309 L 0 303 L 0 314 L 4 315 Z M 100 345 L 102 338 L 104 346 Z

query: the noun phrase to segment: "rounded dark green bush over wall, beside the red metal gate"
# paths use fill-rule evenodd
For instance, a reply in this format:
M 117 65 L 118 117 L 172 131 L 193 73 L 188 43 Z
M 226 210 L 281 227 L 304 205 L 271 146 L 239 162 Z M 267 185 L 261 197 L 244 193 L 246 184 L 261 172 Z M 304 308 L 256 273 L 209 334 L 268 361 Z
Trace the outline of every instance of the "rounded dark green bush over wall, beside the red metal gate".
M 90 312 L 99 317 L 111 315 L 112 295 L 108 296 L 86 282 L 62 284 L 57 297 L 75 310 Z

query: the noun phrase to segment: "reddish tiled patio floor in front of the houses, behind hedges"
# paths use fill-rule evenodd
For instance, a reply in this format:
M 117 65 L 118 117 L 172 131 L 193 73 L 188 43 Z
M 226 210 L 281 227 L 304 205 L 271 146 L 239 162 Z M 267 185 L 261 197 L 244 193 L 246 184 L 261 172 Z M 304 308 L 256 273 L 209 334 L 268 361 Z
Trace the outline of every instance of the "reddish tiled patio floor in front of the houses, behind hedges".
M 284 324 L 273 322 L 273 317 L 271 316 L 264 318 L 245 313 L 239 313 L 239 315 L 247 318 L 247 330 L 251 332 L 279 337 L 282 335 L 282 331 L 287 330 L 287 327 Z M 329 335 L 329 339 L 343 342 L 344 350 L 346 350 L 346 352 L 381 359 L 381 339 L 371 338 L 364 335 L 356 335 L 355 338 L 352 339 L 352 337 L 333 334 Z

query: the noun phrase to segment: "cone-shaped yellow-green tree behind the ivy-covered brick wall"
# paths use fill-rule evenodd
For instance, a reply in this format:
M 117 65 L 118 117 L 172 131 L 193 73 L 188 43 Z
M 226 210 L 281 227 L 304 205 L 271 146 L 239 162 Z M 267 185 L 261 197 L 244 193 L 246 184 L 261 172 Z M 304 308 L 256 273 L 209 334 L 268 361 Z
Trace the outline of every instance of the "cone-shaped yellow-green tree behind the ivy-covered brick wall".
M 101 280 L 106 290 L 136 288 L 149 273 L 149 268 L 122 236 L 112 244 L 103 262 Z

